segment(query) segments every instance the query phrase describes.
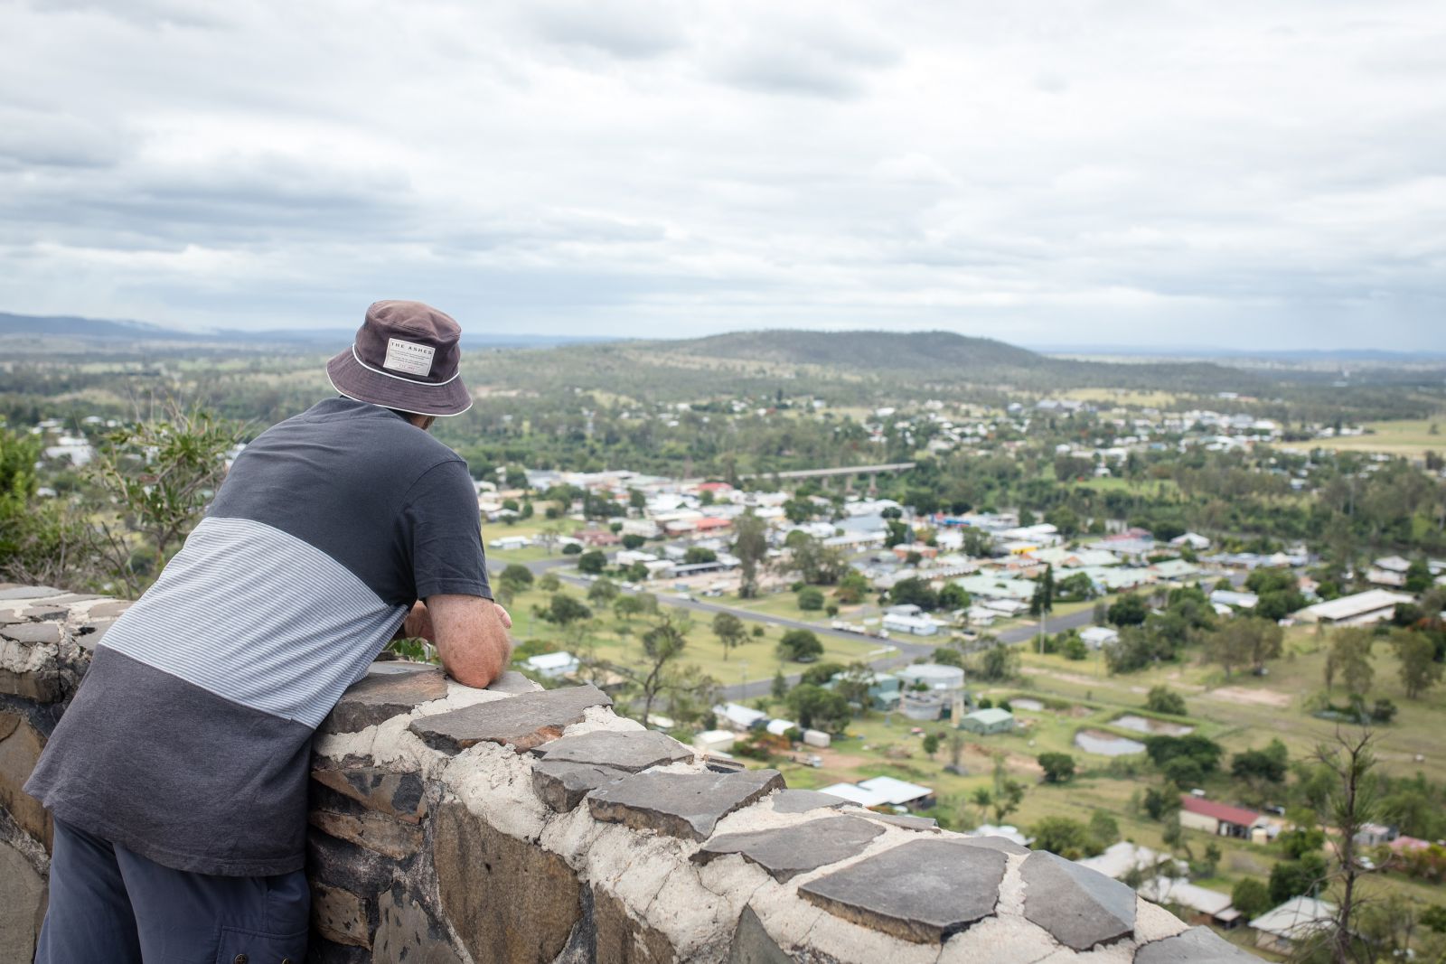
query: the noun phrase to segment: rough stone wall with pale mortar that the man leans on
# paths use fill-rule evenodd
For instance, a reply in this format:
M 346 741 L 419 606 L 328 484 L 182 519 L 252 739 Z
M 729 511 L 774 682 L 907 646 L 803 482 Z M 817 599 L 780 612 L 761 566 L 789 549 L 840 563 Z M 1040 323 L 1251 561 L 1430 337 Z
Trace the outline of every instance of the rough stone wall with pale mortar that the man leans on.
M 124 606 L 0 585 L 0 960 L 45 912 L 51 822 L 20 785 Z M 1254 960 L 1053 854 L 700 759 L 591 687 L 376 663 L 312 776 L 321 963 Z

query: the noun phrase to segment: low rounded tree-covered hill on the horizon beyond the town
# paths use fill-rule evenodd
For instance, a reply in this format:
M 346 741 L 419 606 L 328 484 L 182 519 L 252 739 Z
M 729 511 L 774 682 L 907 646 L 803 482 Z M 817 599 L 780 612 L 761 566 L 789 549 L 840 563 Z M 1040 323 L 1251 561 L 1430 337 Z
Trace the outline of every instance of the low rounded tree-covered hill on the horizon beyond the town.
M 951 331 L 733 331 L 685 341 L 642 343 L 655 351 L 816 364 L 868 371 L 999 371 L 1040 369 L 1051 361 L 1027 348 Z

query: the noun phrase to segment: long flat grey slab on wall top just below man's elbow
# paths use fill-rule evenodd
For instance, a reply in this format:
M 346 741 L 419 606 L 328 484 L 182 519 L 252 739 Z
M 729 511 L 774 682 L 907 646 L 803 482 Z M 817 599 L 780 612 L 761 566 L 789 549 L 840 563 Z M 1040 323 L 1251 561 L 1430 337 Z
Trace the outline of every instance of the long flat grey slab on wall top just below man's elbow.
M 409 728 L 427 746 L 444 753 L 477 743 L 500 743 L 521 753 L 562 736 L 562 730 L 581 723 L 589 707 L 610 705 L 613 701 L 597 687 L 562 687 L 414 720 Z

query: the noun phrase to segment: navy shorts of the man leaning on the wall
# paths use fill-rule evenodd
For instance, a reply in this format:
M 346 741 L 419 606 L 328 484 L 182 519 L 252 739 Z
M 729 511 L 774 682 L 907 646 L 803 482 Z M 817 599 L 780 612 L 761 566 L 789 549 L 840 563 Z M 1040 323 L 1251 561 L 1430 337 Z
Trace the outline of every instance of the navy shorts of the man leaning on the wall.
M 172 870 L 55 821 L 51 903 L 36 964 L 302 964 L 302 872 L 220 877 Z

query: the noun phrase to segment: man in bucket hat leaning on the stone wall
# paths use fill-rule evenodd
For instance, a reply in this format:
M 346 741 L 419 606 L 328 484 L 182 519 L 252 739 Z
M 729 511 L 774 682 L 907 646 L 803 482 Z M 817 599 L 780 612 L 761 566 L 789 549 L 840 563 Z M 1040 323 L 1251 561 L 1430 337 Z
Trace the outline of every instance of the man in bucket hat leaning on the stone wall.
M 95 646 L 26 785 L 55 817 L 36 961 L 299 964 L 312 731 L 399 629 L 463 684 L 500 675 L 476 490 L 425 431 L 471 406 L 460 335 L 372 305 L 327 364 L 341 397 L 241 452 Z

